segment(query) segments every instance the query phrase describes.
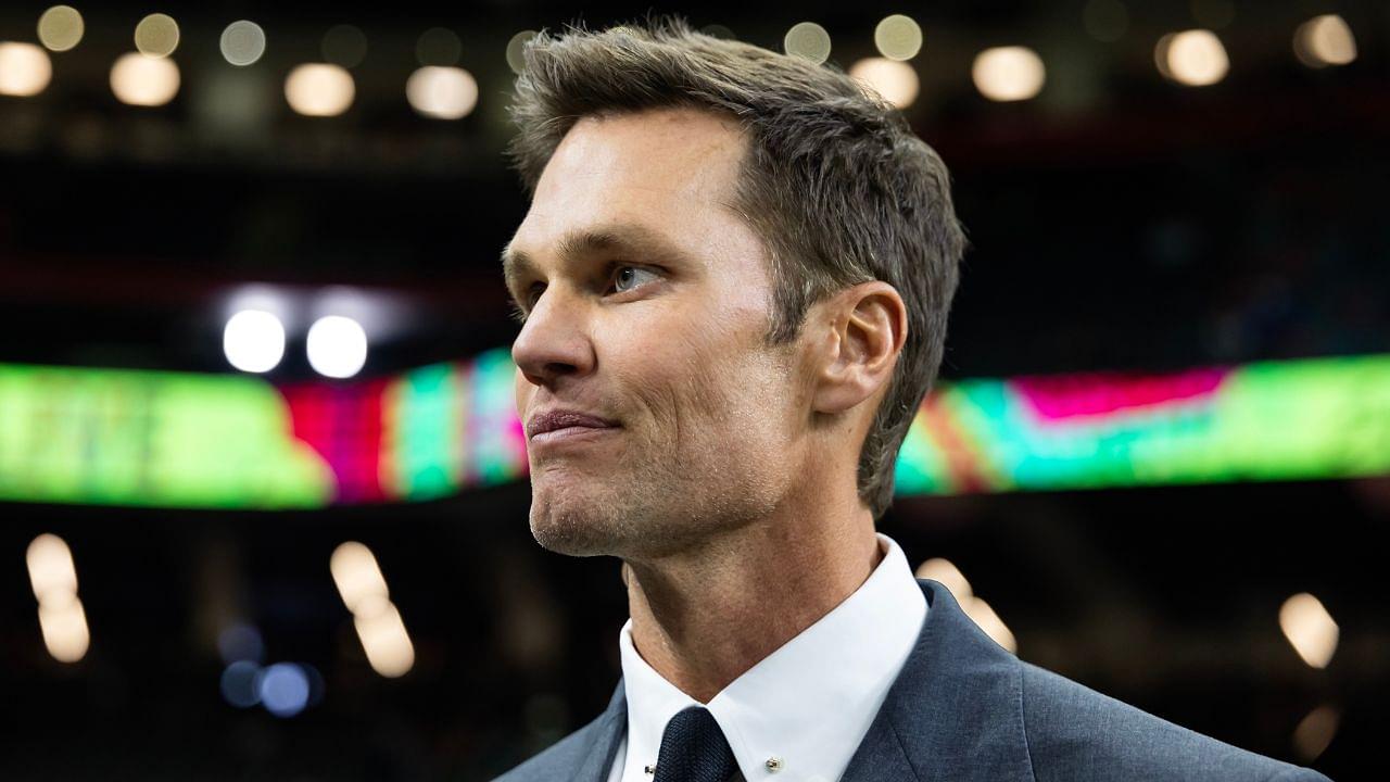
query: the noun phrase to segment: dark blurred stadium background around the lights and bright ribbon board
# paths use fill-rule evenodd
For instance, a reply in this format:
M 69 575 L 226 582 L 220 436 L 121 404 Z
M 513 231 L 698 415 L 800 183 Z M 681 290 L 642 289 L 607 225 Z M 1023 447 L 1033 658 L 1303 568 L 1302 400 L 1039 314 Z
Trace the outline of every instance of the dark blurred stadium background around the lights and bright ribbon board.
M 359 302 L 368 378 L 510 344 L 498 253 L 525 199 L 503 159 L 509 42 L 653 11 L 777 50 L 813 21 L 845 70 L 878 56 L 887 15 L 920 25 L 903 111 L 951 167 L 973 245 L 948 380 L 1390 352 L 1390 4 L 111 1 L 78 6 L 81 42 L 42 50 L 49 79 L 17 95 L 47 8 L 0 10 L 0 40 L 32 45 L 0 49 L 0 362 L 232 373 L 224 323 L 264 291 Z M 113 63 L 156 10 L 179 28 L 179 86 L 131 106 Z M 267 40 L 245 67 L 220 49 L 238 19 Z M 1183 83 L 1215 57 L 1190 38 L 1195 64 L 1175 60 L 1165 36 L 1191 29 L 1229 61 L 1213 83 Z M 972 67 L 998 46 L 1037 54 L 1040 92 L 986 97 Z M 341 114 L 286 102 L 310 61 L 348 67 Z M 421 65 L 466 68 L 475 106 L 414 109 Z M 267 377 L 316 376 L 291 349 Z M 528 502 L 521 480 L 324 511 L 0 504 L 0 776 L 491 779 L 602 710 L 627 618 L 619 564 L 543 552 Z M 1364 477 L 912 498 L 881 529 L 915 565 L 955 562 L 1022 658 L 1355 779 L 1387 728 L 1386 522 L 1390 480 Z M 81 577 L 78 662 L 35 619 L 22 561 L 42 533 Z M 353 633 L 329 575 L 345 540 L 391 584 L 404 676 L 374 673 Z M 1280 630 L 1298 593 L 1340 626 L 1325 668 Z M 307 672 L 300 710 L 228 700 L 235 639 Z

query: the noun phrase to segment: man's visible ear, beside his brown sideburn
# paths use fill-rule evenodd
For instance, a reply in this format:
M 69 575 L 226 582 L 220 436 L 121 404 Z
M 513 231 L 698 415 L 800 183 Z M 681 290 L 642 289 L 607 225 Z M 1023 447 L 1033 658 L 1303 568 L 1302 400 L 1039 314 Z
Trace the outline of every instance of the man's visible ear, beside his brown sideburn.
M 883 281 L 860 282 L 817 308 L 830 326 L 819 341 L 812 409 L 841 413 L 885 388 L 908 338 L 908 308 Z

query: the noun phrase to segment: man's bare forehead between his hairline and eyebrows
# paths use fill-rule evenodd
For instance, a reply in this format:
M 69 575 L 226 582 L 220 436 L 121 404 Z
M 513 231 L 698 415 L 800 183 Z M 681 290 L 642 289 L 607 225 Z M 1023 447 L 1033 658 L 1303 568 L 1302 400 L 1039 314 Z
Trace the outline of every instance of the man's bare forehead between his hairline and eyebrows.
M 541 257 L 613 227 L 696 248 L 737 231 L 745 146 L 735 121 L 694 109 L 581 118 L 546 164 L 507 255 Z

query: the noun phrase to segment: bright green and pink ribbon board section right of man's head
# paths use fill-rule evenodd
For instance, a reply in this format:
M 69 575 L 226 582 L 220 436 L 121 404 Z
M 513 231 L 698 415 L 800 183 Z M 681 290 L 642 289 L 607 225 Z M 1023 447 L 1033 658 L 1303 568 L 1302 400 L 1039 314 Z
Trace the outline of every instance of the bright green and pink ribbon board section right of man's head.
M 1390 356 L 966 380 L 917 410 L 897 470 L 899 494 L 1390 473 Z

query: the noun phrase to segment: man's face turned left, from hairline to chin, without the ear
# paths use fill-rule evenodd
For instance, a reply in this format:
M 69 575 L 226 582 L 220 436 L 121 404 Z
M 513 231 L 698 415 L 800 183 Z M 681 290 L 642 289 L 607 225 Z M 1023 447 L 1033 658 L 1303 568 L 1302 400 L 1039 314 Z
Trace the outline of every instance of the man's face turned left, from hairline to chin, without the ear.
M 742 132 L 696 110 L 584 118 L 507 248 L 531 532 L 553 551 L 655 558 L 771 512 L 798 474 L 808 392 L 767 348 L 760 241 L 730 207 Z

